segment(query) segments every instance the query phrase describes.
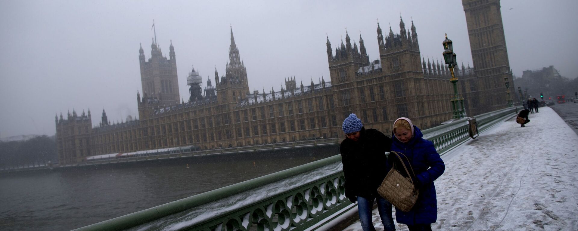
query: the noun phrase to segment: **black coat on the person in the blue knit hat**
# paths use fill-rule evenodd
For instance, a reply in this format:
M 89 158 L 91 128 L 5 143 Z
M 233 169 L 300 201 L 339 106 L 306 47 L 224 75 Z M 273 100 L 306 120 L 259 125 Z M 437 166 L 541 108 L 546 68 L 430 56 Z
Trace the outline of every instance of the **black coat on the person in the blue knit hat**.
M 361 128 L 357 141 L 344 139 L 339 146 L 345 175 L 345 196 L 373 197 L 386 177 L 387 157 L 391 151 L 391 138 L 376 129 Z

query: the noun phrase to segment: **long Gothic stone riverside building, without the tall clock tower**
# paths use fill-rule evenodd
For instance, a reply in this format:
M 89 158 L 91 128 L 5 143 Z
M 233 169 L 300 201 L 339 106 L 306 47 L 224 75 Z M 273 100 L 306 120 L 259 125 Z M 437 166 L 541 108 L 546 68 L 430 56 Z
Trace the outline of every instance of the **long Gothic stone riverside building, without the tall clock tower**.
M 375 61 L 370 61 L 366 54 L 361 35 L 358 46 L 357 43 L 351 44 L 346 31 L 345 43 L 342 40 L 340 46 L 335 47 L 335 52 L 327 38 L 331 81 L 326 82 L 325 77 L 321 76 L 317 83 L 312 79 L 309 84 L 297 85 L 295 78 L 289 77 L 279 91 L 272 88 L 268 92 L 249 92 L 249 78 L 231 29 L 229 62 L 225 74 L 219 76 L 215 70 L 214 87 L 208 79 L 202 97 L 181 103 L 175 103 L 170 98 L 170 91 L 149 94 L 145 90 L 149 89 L 146 88 L 149 84 L 144 83 L 150 79 L 147 73 L 163 73 L 160 66 L 143 69 L 151 61 L 154 64 L 155 58 L 161 62 L 166 61 L 165 67 L 170 67 L 176 77 L 176 72 L 173 72 L 176 66 L 172 66 L 172 44 L 171 59 L 168 60 L 161 59 L 160 50 L 153 44 L 151 58 L 149 62 L 144 62 L 141 48 L 139 59 L 143 97 L 137 93 L 136 98 L 139 120 L 110 124 L 103 111 L 103 122 L 99 126 L 90 128 L 90 119 L 81 124 L 85 127 L 88 125 L 88 133 L 82 133 L 79 138 L 74 135 L 80 136 L 80 133 L 63 133 L 80 126 L 71 122 L 78 121 L 76 117 L 57 120 L 59 157 L 62 157 L 62 163 L 72 163 L 83 161 L 88 154 L 190 145 L 202 149 L 227 148 L 339 137 L 343 135 L 342 121 L 350 113 L 357 114 L 367 128 L 376 128 L 386 134 L 391 134 L 391 124 L 398 117 L 412 118 L 414 125 L 424 129 L 450 120 L 453 90 L 449 82 L 449 71 L 445 65 L 439 62 L 432 64 L 429 59 L 426 63 L 421 57 L 413 21 L 407 30 L 400 18 L 399 29 L 399 33 L 394 34 L 390 27 L 386 36 L 383 36 L 377 24 L 380 57 Z M 472 80 L 476 79 L 475 70 L 462 66 L 455 73 L 466 79 L 465 84 L 460 83 L 460 91 L 468 92 L 469 82 L 474 83 Z M 172 78 L 171 75 L 169 77 Z M 501 90 L 500 87 L 497 89 Z M 88 148 L 83 149 L 86 151 L 65 149 L 69 147 L 65 145 L 67 142 L 77 143 L 78 139 L 87 140 Z M 79 146 L 76 144 L 74 147 Z

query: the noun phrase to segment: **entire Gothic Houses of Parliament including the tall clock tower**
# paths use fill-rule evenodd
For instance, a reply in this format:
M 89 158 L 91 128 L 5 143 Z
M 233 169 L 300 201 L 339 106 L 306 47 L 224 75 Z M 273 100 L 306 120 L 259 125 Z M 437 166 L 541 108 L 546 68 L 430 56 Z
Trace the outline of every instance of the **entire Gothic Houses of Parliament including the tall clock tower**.
M 499 0 L 462 0 L 472 49 L 473 68 L 455 70 L 468 116 L 507 107 L 505 79 L 512 81 Z M 409 28 L 408 28 L 409 27 Z M 367 128 L 391 133 L 398 117 L 409 117 L 420 128 L 453 118 L 453 88 L 445 64 L 420 55 L 417 29 L 399 20 L 399 32 L 382 31 L 379 59 L 370 60 L 365 41 L 332 44 L 327 38 L 330 79 L 297 83 L 285 79 L 279 90 L 249 90 L 250 76 L 231 28 L 225 73 L 214 72 L 203 89 L 194 69 L 187 77 L 189 100 L 180 99 L 175 48 L 166 58 L 153 40 L 147 59 L 139 49 L 142 95 L 136 94 L 139 118 L 111 124 L 102 111 L 92 126 L 91 112 L 55 118 L 61 165 L 86 157 L 140 150 L 197 146 L 203 150 L 264 143 L 340 137 L 342 121 L 357 114 Z M 443 39 L 440 39 L 440 44 Z M 440 49 L 440 53 L 442 49 Z M 257 67 L 258 68 L 258 67 Z M 513 88 L 512 88 L 513 89 Z M 517 98 L 517 97 L 514 97 Z

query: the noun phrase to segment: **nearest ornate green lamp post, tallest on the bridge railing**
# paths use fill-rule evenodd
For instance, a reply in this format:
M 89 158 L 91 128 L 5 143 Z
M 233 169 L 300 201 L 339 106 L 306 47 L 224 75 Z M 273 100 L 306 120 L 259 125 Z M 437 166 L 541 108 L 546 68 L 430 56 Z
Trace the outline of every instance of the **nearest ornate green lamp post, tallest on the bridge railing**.
M 447 38 L 446 33 L 446 40 L 443 40 L 442 42 L 443 48 L 445 49 L 442 54 L 443 59 L 447 64 L 447 68 L 450 69 L 451 73 L 450 82 L 451 84 L 454 85 L 454 98 L 451 99 L 451 107 L 453 108 L 454 111 L 454 118 L 463 118 L 466 115 L 464 109 L 464 98 L 462 98 L 458 94 L 458 79 L 454 75 L 454 66 L 457 65 L 457 61 L 455 59 L 456 55 L 453 51 L 454 47 L 452 43 L 453 42 L 451 42 L 451 40 Z

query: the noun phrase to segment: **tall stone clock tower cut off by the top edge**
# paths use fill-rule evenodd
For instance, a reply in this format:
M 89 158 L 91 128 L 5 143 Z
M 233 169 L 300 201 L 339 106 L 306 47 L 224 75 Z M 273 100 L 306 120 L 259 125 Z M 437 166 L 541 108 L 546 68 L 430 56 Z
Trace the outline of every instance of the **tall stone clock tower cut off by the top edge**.
M 463 79 L 463 93 L 469 115 L 502 109 L 507 106 L 505 79 L 510 92 L 515 86 L 507 56 L 506 38 L 499 0 L 462 0 L 468 25 L 475 75 Z M 462 79 L 460 79 L 462 81 Z M 516 95 L 511 94 L 514 101 Z

